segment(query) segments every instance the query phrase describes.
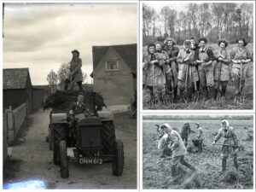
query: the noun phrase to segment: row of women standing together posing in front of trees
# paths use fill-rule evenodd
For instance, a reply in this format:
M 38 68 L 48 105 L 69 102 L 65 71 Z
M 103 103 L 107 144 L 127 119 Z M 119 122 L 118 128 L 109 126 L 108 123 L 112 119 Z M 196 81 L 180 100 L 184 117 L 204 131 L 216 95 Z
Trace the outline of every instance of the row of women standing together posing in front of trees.
M 218 40 L 218 49 L 207 47 L 207 38 L 184 41 L 183 49 L 175 46 L 173 38 L 166 38 L 164 44 L 148 44 L 148 54 L 143 56 L 143 89 L 155 94 L 172 95 L 173 102 L 192 101 L 194 94 L 204 100 L 217 99 L 218 93 L 224 98 L 229 80 L 234 81 L 235 97 L 241 95 L 245 85 L 247 63 L 253 56 L 241 38 L 237 45 L 227 51 L 228 41 Z M 161 98 L 160 100 L 163 100 Z

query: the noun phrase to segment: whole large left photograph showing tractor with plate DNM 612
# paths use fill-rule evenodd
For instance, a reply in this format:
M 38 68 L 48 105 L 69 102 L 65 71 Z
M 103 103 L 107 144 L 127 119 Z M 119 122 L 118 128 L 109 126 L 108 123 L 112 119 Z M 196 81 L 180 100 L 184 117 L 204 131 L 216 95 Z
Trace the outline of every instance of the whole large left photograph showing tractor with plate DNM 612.
M 137 3 L 3 2 L 3 189 L 137 189 Z

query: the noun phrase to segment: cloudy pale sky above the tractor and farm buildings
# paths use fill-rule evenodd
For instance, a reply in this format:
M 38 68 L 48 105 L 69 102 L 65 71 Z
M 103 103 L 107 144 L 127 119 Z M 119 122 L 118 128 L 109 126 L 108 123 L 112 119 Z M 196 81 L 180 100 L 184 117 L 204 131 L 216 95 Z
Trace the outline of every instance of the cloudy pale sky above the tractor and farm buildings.
M 29 67 L 33 85 L 48 84 L 73 49 L 89 76 L 93 45 L 137 43 L 137 4 L 6 3 L 3 25 L 3 68 Z

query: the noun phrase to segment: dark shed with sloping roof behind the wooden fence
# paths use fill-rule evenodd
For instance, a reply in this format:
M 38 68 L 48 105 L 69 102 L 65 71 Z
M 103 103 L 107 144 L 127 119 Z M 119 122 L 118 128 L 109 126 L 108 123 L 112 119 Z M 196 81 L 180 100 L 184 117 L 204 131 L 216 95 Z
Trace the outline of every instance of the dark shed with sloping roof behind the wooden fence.
M 3 69 L 3 108 L 15 109 L 26 102 L 32 113 L 42 106 L 42 93 L 44 90 L 33 89 L 28 68 Z

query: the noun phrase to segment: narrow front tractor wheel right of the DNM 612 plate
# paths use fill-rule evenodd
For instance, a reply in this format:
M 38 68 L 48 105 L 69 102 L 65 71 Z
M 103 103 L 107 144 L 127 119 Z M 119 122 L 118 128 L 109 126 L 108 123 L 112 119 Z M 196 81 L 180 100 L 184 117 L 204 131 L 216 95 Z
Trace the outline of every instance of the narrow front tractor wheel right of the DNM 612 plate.
M 116 140 L 114 148 L 114 156 L 112 161 L 112 173 L 115 176 L 121 176 L 124 169 L 124 144 L 120 140 Z

